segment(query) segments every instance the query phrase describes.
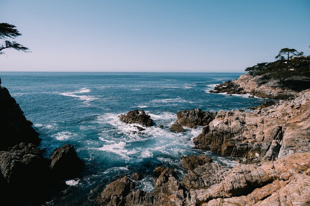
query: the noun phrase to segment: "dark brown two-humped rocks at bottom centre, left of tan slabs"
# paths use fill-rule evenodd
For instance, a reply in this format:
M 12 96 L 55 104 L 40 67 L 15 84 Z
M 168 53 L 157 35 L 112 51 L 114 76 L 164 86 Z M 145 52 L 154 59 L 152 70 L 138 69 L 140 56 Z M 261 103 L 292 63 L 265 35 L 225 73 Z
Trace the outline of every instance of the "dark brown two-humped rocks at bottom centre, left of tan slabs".
M 156 181 L 157 188 L 152 192 L 130 191 L 130 182 L 125 176 L 110 183 L 97 197 L 97 203 L 109 206 L 192 205 L 187 189 L 175 178 L 175 172 L 171 168 L 162 171 Z

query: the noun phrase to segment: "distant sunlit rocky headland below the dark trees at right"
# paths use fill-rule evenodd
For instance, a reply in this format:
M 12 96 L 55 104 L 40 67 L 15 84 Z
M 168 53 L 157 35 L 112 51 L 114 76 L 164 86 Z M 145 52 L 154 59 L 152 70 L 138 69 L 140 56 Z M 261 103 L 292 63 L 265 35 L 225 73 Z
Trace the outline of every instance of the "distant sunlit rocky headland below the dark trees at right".
M 238 79 L 224 82 L 211 90 L 211 93 L 251 94 L 269 99 L 286 99 L 310 87 L 308 77 L 290 77 L 284 80 L 266 79 L 264 76 L 241 75 Z

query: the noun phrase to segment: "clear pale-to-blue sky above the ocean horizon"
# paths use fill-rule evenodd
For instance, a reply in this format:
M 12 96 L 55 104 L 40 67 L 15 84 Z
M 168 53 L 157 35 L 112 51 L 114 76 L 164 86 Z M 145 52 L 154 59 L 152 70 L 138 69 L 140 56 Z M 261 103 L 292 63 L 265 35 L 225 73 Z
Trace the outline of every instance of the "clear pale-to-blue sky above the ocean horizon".
M 2 50 L 0 71 L 244 72 L 281 48 L 310 55 L 310 0 L 0 0 L 0 9 L 32 51 Z

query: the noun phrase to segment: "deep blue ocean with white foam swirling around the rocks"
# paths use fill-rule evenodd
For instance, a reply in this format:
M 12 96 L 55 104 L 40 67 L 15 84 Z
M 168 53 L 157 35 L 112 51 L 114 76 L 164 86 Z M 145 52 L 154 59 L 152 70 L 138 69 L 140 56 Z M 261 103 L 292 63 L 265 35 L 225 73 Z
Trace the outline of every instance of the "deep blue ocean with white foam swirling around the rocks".
M 214 86 L 241 73 L 17 73 L 0 72 L 26 118 L 40 134 L 41 149 L 49 158 L 56 147 L 74 146 L 85 163 L 79 179 L 45 205 L 90 205 L 111 181 L 133 172 L 143 174 L 137 188 L 152 191 L 153 170 L 173 167 L 182 178 L 181 156 L 207 154 L 227 167 L 235 159 L 192 149 L 202 127 L 169 132 L 181 110 L 245 109 L 265 99 L 248 95 L 211 94 Z M 142 134 L 118 116 L 143 109 L 155 125 Z M 163 125 L 163 128 L 159 126 Z M 141 125 L 140 125 L 141 126 Z M 189 141 L 189 139 L 191 139 Z

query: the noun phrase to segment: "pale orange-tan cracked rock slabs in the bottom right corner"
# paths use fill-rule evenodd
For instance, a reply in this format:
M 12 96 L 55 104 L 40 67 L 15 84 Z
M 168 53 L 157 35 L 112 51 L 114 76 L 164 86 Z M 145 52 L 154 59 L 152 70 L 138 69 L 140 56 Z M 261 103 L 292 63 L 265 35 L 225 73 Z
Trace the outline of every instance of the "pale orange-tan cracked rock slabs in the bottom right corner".
M 310 153 L 294 153 L 262 166 L 239 165 L 207 189 L 191 190 L 201 205 L 309 205 Z

